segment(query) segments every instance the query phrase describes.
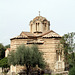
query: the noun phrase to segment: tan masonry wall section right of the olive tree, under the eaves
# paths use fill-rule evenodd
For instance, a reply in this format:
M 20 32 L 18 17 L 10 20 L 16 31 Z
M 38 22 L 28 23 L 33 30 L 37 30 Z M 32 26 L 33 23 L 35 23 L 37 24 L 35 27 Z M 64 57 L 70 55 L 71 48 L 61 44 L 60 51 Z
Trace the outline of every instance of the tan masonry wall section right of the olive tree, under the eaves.
M 54 71 L 55 63 L 56 63 L 56 45 L 59 42 L 59 39 L 55 38 L 46 38 L 43 39 L 44 44 L 39 45 L 39 50 L 44 53 L 44 58 L 49 68 Z

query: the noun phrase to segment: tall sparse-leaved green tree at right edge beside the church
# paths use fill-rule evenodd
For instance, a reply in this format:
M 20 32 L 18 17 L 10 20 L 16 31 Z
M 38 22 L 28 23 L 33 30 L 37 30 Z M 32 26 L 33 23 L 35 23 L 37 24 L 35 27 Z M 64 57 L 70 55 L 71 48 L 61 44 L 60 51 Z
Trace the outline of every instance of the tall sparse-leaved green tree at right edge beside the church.
M 63 50 L 64 50 L 64 61 L 65 65 L 69 64 L 69 66 L 73 66 L 75 63 L 74 60 L 74 49 L 75 49 L 75 33 L 68 33 L 65 34 L 60 41 L 60 44 L 62 44 Z M 68 66 L 68 67 L 69 67 Z

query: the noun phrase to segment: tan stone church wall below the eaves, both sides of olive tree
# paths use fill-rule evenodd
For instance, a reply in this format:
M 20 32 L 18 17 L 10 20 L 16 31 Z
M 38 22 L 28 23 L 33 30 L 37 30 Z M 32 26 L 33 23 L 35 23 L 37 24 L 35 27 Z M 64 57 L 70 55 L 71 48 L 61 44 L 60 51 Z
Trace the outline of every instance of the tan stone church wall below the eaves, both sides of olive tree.
M 27 43 L 27 41 L 31 41 L 33 39 L 14 39 L 11 40 L 11 50 L 15 50 L 17 46 L 21 44 Z M 38 48 L 40 51 L 44 53 L 44 58 L 49 68 L 54 71 L 55 63 L 56 63 L 56 45 L 58 44 L 60 39 L 55 38 L 45 38 L 43 39 L 44 44 L 38 44 Z M 28 44 L 28 46 L 31 44 Z

